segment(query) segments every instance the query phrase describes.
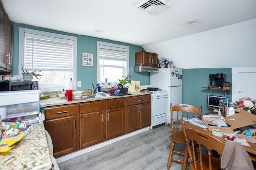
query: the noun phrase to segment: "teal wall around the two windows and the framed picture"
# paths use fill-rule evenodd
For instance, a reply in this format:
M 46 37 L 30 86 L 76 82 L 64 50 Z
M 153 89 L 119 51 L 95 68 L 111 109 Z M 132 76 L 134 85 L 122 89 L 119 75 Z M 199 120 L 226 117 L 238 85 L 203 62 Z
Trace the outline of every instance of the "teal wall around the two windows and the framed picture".
M 149 72 L 133 72 L 133 66 L 134 66 L 134 54 L 138 51 L 141 51 L 142 47 L 138 45 L 132 45 L 128 43 L 122 43 L 118 41 L 111 41 L 108 39 L 101 39 L 96 37 L 90 37 L 85 35 L 77 35 L 72 33 L 66 33 L 61 31 L 56 31 L 52 29 L 45 29 L 40 27 L 34 27 L 31 25 L 24 25 L 19 23 L 13 23 L 14 25 L 14 51 L 13 51 L 13 71 L 12 74 L 18 74 L 18 54 L 19 54 L 19 27 L 29 28 L 29 29 L 36 29 L 39 31 L 46 31 L 51 33 L 59 33 L 64 35 L 70 35 L 77 37 L 77 80 L 82 81 L 82 87 L 79 87 L 78 89 L 89 89 L 92 86 L 92 83 L 96 84 L 96 55 L 97 55 L 97 49 L 96 49 L 96 42 L 97 41 L 104 41 L 107 43 L 115 43 L 119 45 L 126 45 L 130 47 L 130 63 L 129 63 L 129 69 L 130 69 L 130 79 L 131 80 L 140 80 L 141 85 L 150 84 L 150 77 Z M 93 67 L 82 67 L 82 52 L 88 52 L 94 54 L 94 66 Z M 23 57 L 23 56 L 20 56 Z

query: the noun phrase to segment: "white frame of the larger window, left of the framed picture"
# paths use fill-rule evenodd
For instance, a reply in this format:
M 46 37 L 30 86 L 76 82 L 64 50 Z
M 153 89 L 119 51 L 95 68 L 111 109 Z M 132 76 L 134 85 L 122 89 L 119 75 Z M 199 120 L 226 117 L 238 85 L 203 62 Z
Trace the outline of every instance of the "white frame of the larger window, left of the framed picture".
M 77 37 L 74 36 L 69 36 L 69 35 L 63 35 L 63 34 L 58 34 L 58 33 L 50 33 L 46 31 L 38 31 L 34 29 L 28 29 L 28 28 L 19 28 L 19 64 L 18 64 L 18 73 L 19 75 L 22 75 L 22 69 L 21 69 L 21 64 L 24 65 L 24 48 L 25 48 L 25 33 L 30 33 L 30 34 L 35 34 L 35 35 L 42 35 L 46 37 L 52 37 L 52 38 L 58 38 L 58 39 L 66 39 L 66 40 L 71 40 L 74 41 L 74 49 L 73 49 L 73 76 L 72 80 L 73 82 L 73 88 L 76 89 L 76 75 L 77 75 L 77 70 L 76 70 L 76 65 L 77 65 Z M 34 79 L 36 80 L 36 79 Z M 62 88 L 67 89 L 68 84 L 39 84 L 39 89 L 40 88 L 50 88 L 50 91 L 60 91 Z

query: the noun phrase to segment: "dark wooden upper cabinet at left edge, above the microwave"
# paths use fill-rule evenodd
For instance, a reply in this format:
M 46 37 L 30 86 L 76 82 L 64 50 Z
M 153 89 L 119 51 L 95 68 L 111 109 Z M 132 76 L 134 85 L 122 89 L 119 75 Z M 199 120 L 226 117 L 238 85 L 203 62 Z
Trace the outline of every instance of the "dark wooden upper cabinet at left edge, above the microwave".
M 12 72 L 13 25 L 0 1 L 0 72 Z

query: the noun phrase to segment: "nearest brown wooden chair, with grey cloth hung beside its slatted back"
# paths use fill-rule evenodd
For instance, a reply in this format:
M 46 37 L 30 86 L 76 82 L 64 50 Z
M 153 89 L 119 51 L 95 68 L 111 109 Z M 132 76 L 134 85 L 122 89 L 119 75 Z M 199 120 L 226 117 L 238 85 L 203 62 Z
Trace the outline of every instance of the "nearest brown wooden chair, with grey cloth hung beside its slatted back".
M 182 122 L 182 129 L 188 146 L 188 155 L 191 161 L 190 168 L 192 170 L 220 170 L 221 154 L 225 143 L 206 132 L 186 128 L 184 122 Z M 190 145 L 192 146 L 193 152 Z M 197 145 L 198 150 L 195 150 L 195 145 Z M 202 155 L 202 145 L 207 148 L 208 154 Z M 216 158 L 212 156 L 211 150 L 218 152 L 220 157 Z M 198 156 L 198 160 L 196 156 Z

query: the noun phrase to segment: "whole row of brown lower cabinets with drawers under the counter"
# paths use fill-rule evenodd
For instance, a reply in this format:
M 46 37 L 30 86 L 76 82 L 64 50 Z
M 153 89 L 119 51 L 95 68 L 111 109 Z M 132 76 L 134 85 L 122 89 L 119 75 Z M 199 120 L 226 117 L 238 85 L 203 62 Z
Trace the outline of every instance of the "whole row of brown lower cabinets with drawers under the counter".
M 45 107 L 54 157 L 150 126 L 150 102 L 143 95 Z

